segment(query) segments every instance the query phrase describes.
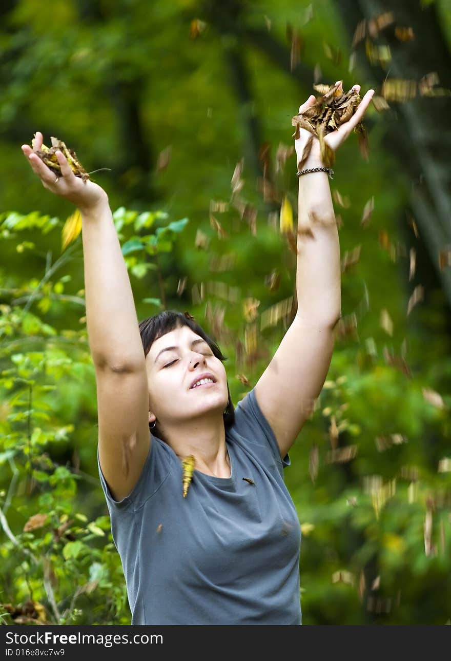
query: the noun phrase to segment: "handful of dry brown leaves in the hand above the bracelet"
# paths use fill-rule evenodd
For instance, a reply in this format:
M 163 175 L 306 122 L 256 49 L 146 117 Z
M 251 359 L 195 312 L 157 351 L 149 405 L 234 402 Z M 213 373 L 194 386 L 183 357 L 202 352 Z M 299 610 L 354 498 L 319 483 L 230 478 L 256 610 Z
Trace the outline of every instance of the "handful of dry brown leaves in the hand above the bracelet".
M 316 99 L 312 106 L 292 118 L 291 124 L 296 127 L 292 137 L 295 139 L 300 137 L 300 128 L 304 128 L 313 134 L 305 145 L 299 167 L 302 167 L 307 160 L 312 147 L 313 136 L 320 140 L 321 159 L 324 165 L 326 167 L 333 165 L 335 152 L 324 141 L 324 137 L 337 130 L 341 124 L 349 121 L 361 102 L 359 92 L 353 89 L 350 89 L 349 92 L 343 92 L 341 89 L 342 83 L 343 81 L 338 81 L 335 85 L 314 85 L 314 89 L 320 92 L 321 96 Z M 363 122 L 359 122 L 354 130 L 359 136 L 359 148 L 363 155 L 366 155 L 368 143 Z

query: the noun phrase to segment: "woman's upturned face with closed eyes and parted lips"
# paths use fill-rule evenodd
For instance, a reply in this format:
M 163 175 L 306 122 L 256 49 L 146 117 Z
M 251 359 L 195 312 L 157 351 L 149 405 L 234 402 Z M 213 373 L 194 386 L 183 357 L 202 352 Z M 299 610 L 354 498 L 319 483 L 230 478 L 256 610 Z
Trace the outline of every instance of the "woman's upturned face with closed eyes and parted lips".
M 149 421 L 162 427 L 207 412 L 223 414 L 228 403 L 226 371 L 211 348 L 190 327 L 182 326 L 153 342 L 146 356 Z M 214 383 L 193 384 L 208 373 Z

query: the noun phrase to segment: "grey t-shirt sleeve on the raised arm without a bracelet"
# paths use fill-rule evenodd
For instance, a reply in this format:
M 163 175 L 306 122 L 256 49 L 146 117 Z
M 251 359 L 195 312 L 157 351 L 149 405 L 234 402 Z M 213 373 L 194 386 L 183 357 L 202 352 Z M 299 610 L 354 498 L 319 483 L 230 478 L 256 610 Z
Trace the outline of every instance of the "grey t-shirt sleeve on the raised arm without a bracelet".
M 150 432 L 149 432 L 150 433 Z M 122 500 L 115 500 L 112 496 L 110 488 L 106 483 L 102 469 L 100 468 L 100 457 L 97 446 L 97 465 L 98 474 L 100 477 L 100 484 L 105 494 L 108 509 L 114 508 L 122 510 L 124 508 L 132 508 L 137 510 L 140 508 L 148 498 L 158 491 L 160 486 L 166 481 L 171 470 L 171 455 L 168 447 L 162 440 L 151 435 L 151 446 L 147 454 L 143 470 L 133 490 L 128 496 Z

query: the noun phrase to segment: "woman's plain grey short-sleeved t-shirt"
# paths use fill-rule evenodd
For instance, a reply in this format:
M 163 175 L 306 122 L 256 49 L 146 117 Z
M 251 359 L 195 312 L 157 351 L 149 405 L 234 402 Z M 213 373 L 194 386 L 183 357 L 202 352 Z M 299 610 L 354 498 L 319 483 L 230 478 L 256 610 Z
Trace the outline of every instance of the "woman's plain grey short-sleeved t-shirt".
M 238 403 L 226 446 L 231 476 L 194 471 L 186 498 L 182 463 L 156 436 L 120 501 L 98 461 L 132 625 L 301 624 L 300 524 L 283 482 L 291 461 L 254 390 Z

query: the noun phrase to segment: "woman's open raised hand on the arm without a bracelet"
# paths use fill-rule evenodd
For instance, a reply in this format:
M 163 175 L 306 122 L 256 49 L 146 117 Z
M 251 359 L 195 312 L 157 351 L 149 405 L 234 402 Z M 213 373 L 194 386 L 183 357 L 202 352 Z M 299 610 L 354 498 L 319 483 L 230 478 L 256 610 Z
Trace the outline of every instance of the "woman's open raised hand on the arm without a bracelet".
M 42 133 L 36 132 L 34 148 L 32 149 L 29 145 L 22 145 L 22 151 L 28 163 L 30 163 L 32 171 L 40 178 L 44 188 L 75 204 L 82 214 L 92 212 L 105 202 L 108 203 L 108 195 L 101 186 L 94 184 L 89 179 L 83 181 L 81 177 L 74 175 L 61 151 L 56 152 L 61 167 L 61 175 L 57 177 L 35 153 L 41 148 L 42 140 Z

